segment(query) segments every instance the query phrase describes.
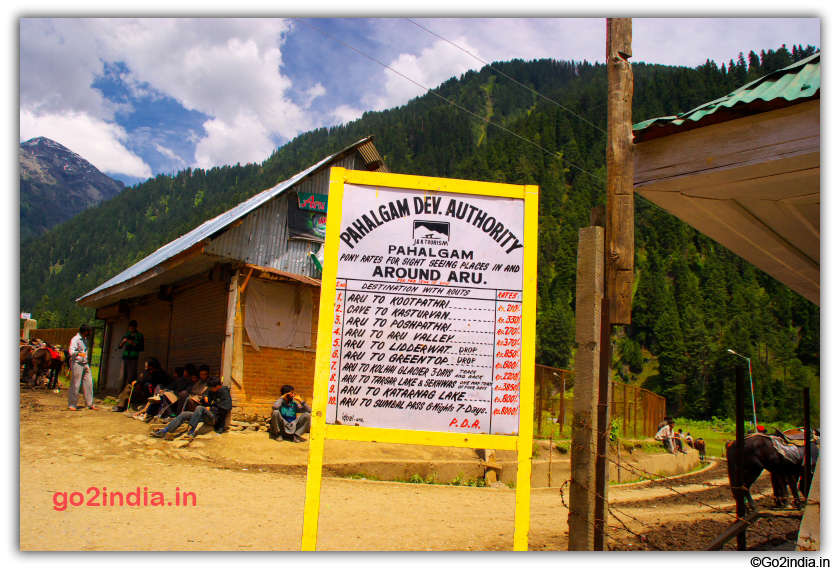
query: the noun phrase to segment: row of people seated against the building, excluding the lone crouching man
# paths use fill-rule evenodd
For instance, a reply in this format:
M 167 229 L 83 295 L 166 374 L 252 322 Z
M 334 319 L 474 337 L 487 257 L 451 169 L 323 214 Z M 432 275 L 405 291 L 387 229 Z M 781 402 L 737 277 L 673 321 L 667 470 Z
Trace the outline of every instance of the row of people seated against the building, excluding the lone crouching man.
M 141 421 L 150 422 L 157 418 L 167 423 L 163 429 L 154 430 L 151 435 L 172 439 L 174 432 L 185 421 L 190 428 L 186 437 L 195 437 L 198 424 L 215 426 L 224 430 L 225 417 L 233 409 L 230 389 L 222 381 L 210 376 L 210 367 L 193 364 L 175 369 L 174 378 L 160 365 L 157 358 L 149 358 L 143 375 L 135 382 L 127 383 L 117 396 L 114 412 L 130 411 L 132 404 L 143 407 L 132 414 Z

